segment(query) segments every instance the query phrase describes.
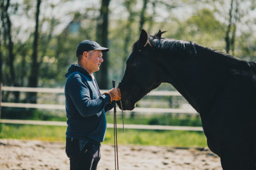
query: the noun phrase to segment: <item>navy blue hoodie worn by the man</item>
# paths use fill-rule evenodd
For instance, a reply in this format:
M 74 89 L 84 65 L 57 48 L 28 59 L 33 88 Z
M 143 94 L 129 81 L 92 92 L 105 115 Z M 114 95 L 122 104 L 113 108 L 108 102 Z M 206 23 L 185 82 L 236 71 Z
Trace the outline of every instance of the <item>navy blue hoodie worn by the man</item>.
M 66 138 L 103 142 L 107 129 L 105 112 L 113 108 L 108 104 L 110 96 L 101 95 L 96 80 L 77 64 L 68 68 L 65 77 Z

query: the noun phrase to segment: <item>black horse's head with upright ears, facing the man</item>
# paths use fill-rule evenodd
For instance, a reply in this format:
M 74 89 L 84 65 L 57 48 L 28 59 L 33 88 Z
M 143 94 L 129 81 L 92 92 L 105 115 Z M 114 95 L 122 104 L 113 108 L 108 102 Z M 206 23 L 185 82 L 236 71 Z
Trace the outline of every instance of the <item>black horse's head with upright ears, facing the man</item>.
M 155 37 L 160 38 L 162 33 L 158 32 Z M 134 43 L 126 61 L 125 75 L 119 85 L 123 110 L 133 110 L 137 101 L 161 84 L 160 71 L 148 34 L 142 29 L 140 39 Z M 117 104 L 120 108 L 120 103 Z

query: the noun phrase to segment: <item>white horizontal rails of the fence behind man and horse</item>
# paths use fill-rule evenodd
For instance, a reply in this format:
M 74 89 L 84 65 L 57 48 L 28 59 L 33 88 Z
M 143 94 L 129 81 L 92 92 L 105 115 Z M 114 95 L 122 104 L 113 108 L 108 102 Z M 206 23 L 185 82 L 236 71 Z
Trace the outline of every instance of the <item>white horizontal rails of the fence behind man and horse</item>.
M 37 93 L 55 93 L 64 94 L 64 88 L 26 88 L 26 87 L 0 87 L 2 91 L 20 91 L 20 92 L 37 92 Z M 105 93 L 107 90 L 101 90 Z M 177 91 L 152 91 L 149 96 L 181 96 Z M 0 93 L 1 98 L 1 93 Z M 15 108 L 39 108 L 39 109 L 60 109 L 64 110 L 65 105 L 48 105 L 48 104 L 32 104 L 32 103 L 8 103 L 1 102 L 1 107 L 15 107 Z M 121 111 L 117 108 L 117 111 Z M 198 114 L 194 109 L 175 109 L 175 108 L 135 108 L 133 111 L 125 112 L 139 112 L 139 113 L 188 113 Z M 1 115 L 1 111 L 0 111 Z M 30 125 L 57 125 L 67 126 L 66 122 L 55 121 L 34 121 L 34 120 L 11 120 L 0 119 L 0 123 L 11 124 L 30 124 Z M 112 124 L 108 124 L 107 127 L 113 127 Z M 122 125 L 117 125 L 117 128 L 122 128 Z M 202 131 L 202 127 L 186 127 L 186 126 L 161 126 L 161 125 L 125 125 L 127 129 L 148 129 L 148 130 L 189 130 L 189 131 Z

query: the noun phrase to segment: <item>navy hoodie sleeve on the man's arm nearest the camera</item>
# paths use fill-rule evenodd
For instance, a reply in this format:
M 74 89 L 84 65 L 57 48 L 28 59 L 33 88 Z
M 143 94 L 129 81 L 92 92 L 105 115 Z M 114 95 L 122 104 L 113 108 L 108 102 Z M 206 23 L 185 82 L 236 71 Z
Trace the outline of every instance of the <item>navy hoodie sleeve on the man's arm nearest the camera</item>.
M 81 77 L 71 79 L 67 85 L 67 91 L 76 109 L 83 117 L 99 113 L 111 100 L 110 96 L 106 94 L 97 99 L 91 99 L 89 88 L 82 82 Z

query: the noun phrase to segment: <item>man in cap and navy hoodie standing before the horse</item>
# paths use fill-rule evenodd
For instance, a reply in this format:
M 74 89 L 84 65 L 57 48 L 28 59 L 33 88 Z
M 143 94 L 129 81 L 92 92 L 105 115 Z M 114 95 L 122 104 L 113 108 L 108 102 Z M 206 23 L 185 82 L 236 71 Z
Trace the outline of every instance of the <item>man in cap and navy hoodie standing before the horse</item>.
M 93 40 L 82 41 L 76 50 L 78 64 L 71 65 L 65 75 L 70 170 L 96 170 L 107 128 L 105 112 L 113 108 L 113 100 L 121 99 L 118 88 L 101 95 L 93 77 L 103 62 L 102 52 L 108 50 Z

